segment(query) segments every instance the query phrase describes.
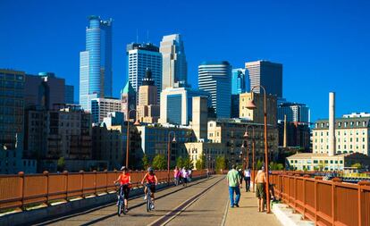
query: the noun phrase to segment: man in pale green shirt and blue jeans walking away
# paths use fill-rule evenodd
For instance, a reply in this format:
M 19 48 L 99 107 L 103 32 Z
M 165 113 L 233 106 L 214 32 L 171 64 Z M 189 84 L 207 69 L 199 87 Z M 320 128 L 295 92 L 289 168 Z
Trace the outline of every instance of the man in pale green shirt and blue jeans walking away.
M 230 205 L 231 208 L 234 206 L 239 207 L 240 200 L 240 173 L 236 171 L 236 166 L 233 164 L 231 170 L 227 173 L 226 176 L 227 185 L 229 186 L 229 196 L 230 196 Z M 234 199 L 235 193 L 235 199 Z

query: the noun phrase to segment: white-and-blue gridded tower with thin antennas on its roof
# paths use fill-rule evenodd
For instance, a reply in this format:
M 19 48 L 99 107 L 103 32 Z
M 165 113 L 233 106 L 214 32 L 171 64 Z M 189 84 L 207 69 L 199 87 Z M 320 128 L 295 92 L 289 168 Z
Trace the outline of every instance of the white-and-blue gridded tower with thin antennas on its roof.
M 152 78 L 157 88 L 158 103 L 162 90 L 162 54 L 159 48 L 153 44 L 131 43 L 126 48 L 128 60 L 128 78 L 132 88 L 137 93 L 137 104 L 139 104 L 139 87 L 144 79 L 147 68 L 152 71 Z

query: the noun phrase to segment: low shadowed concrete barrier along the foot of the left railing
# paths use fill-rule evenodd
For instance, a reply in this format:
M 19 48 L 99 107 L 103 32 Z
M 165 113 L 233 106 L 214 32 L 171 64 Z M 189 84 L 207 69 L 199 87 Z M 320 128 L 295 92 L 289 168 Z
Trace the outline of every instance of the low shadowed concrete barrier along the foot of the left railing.
M 197 178 L 193 178 L 193 180 L 200 180 L 204 178 L 206 178 L 206 176 L 199 176 Z M 171 188 L 172 186 L 173 182 L 171 182 L 169 185 L 167 184 L 167 182 L 163 182 L 158 184 L 156 188 L 164 189 Z M 143 188 L 134 188 L 130 191 L 130 197 L 137 197 L 143 194 L 144 194 Z M 94 207 L 102 205 L 112 205 L 116 201 L 117 195 L 115 192 L 97 197 L 81 198 L 60 205 L 49 205 L 46 207 L 41 207 L 29 211 L 6 214 L 0 217 L 0 225 L 16 226 L 30 224 L 31 222 L 42 222 L 52 220 L 71 213 L 81 213 Z

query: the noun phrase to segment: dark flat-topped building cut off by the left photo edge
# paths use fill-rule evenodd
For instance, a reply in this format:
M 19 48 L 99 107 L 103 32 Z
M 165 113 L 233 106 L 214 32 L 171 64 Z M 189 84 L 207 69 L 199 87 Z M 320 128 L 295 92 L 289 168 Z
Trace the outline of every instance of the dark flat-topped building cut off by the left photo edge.
M 0 144 L 13 150 L 22 144 L 24 72 L 0 69 Z

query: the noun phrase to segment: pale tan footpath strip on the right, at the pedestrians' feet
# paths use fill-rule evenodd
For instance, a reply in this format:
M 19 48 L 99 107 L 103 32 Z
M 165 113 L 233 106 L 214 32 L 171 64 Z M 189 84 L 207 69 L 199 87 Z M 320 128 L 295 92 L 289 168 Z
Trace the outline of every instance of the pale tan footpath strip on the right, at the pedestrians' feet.
M 225 219 L 226 226 L 253 225 L 253 226 L 282 226 L 273 213 L 259 213 L 256 194 L 241 189 L 240 207 L 231 208 L 228 205 Z

